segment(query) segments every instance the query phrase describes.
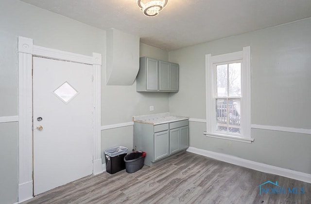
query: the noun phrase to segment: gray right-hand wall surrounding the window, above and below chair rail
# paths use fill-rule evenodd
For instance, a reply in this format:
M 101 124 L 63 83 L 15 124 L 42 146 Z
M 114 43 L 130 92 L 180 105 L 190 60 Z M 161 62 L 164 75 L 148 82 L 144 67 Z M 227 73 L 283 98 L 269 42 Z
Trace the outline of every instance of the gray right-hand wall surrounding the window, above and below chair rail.
M 206 118 L 205 55 L 251 46 L 251 122 L 311 129 L 311 18 L 187 47 L 169 53 L 179 63 L 179 92 L 170 111 Z M 205 123 L 190 122 L 190 146 L 311 173 L 311 135 L 252 129 L 251 144 L 206 137 Z

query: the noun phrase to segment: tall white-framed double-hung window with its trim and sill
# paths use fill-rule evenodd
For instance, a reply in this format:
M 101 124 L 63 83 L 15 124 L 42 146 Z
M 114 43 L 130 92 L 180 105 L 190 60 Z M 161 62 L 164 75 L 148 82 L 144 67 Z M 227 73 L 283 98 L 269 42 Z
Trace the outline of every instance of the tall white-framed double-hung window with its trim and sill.
M 208 137 L 251 142 L 250 47 L 206 55 Z

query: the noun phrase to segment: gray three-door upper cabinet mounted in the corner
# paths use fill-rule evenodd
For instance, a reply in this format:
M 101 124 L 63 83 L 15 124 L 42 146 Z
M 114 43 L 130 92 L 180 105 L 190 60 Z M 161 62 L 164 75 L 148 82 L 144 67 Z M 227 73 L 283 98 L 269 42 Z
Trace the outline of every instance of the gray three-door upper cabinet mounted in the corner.
M 179 65 L 149 57 L 140 57 L 138 92 L 178 92 Z

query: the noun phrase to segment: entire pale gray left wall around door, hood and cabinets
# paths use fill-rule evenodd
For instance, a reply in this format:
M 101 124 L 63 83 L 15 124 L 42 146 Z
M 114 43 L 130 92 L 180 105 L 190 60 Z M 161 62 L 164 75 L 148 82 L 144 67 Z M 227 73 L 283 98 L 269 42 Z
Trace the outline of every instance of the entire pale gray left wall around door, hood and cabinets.
M 106 32 L 103 30 L 19 0 L 2 0 L 0 14 L 0 117 L 18 114 L 17 36 L 33 38 L 38 46 L 78 54 L 91 56 L 92 52 L 98 52 L 103 55 L 104 62 Z M 168 59 L 166 51 L 140 46 L 151 57 Z M 133 115 L 149 114 L 149 105 L 155 106 L 154 113 L 167 112 L 169 95 L 137 93 L 136 83 L 106 86 L 105 66 L 102 66 L 102 125 L 129 122 Z M 102 134 L 102 147 L 123 144 L 131 148 L 133 128 L 114 131 Z M 0 203 L 12 204 L 17 202 L 18 195 L 18 123 L 1 123 L 0 140 Z

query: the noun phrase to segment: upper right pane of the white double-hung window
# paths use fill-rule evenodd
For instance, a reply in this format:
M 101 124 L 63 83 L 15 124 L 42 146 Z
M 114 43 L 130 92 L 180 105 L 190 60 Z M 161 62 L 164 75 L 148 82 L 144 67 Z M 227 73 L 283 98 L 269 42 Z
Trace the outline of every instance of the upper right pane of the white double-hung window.
M 241 97 L 241 63 L 229 64 L 229 96 Z

